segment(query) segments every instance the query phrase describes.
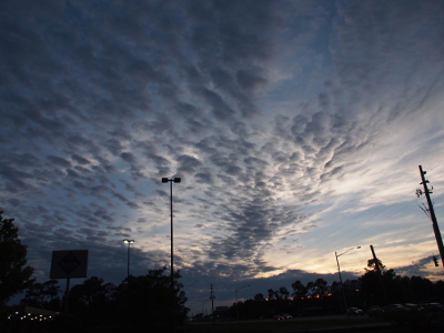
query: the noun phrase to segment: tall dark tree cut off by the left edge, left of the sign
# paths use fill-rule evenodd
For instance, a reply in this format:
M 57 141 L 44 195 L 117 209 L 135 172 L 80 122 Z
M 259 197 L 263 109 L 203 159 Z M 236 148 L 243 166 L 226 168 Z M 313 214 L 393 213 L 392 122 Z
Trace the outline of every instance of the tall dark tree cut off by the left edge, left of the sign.
M 30 287 L 33 269 L 27 266 L 27 246 L 19 240 L 14 219 L 4 219 L 0 212 L 0 306 L 13 295 Z

